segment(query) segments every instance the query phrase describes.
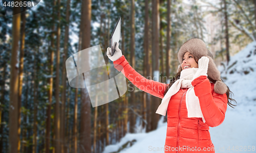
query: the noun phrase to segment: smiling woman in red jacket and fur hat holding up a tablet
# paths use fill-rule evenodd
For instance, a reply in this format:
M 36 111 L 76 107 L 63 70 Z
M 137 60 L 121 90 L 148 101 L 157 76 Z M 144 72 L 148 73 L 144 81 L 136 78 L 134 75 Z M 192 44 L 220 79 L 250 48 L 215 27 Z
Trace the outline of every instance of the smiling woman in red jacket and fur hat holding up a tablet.
M 165 116 L 167 112 L 164 152 L 215 152 L 209 126 L 224 121 L 227 104 L 233 105 L 233 99 L 204 41 L 193 38 L 183 43 L 178 73 L 169 84 L 141 76 L 116 46 L 113 56 L 107 49 L 115 68 L 140 90 L 162 99 L 156 113 Z

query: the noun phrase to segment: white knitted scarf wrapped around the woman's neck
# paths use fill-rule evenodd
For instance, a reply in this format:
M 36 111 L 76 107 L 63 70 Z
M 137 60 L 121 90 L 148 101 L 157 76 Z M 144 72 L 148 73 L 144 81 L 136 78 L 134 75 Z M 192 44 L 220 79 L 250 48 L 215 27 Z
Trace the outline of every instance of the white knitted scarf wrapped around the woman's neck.
M 205 122 L 199 99 L 195 95 L 194 86 L 191 84 L 197 70 L 198 68 L 189 68 L 181 71 L 180 79 L 175 81 L 174 84 L 170 86 L 170 89 L 163 97 L 162 102 L 157 109 L 157 114 L 165 116 L 170 98 L 175 95 L 180 88 L 188 88 L 186 92 L 187 117 L 201 117 L 203 122 Z

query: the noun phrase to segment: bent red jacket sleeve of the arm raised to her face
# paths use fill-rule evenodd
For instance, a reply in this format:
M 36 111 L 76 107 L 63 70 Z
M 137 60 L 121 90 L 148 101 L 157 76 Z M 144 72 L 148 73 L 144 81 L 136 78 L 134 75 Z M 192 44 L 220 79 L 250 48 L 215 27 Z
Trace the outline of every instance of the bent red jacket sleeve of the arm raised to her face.
M 225 118 L 227 110 L 227 95 L 214 92 L 214 84 L 206 76 L 199 76 L 191 84 L 194 86 L 195 94 L 199 98 L 201 111 L 205 122 L 210 127 L 220 125 Z

